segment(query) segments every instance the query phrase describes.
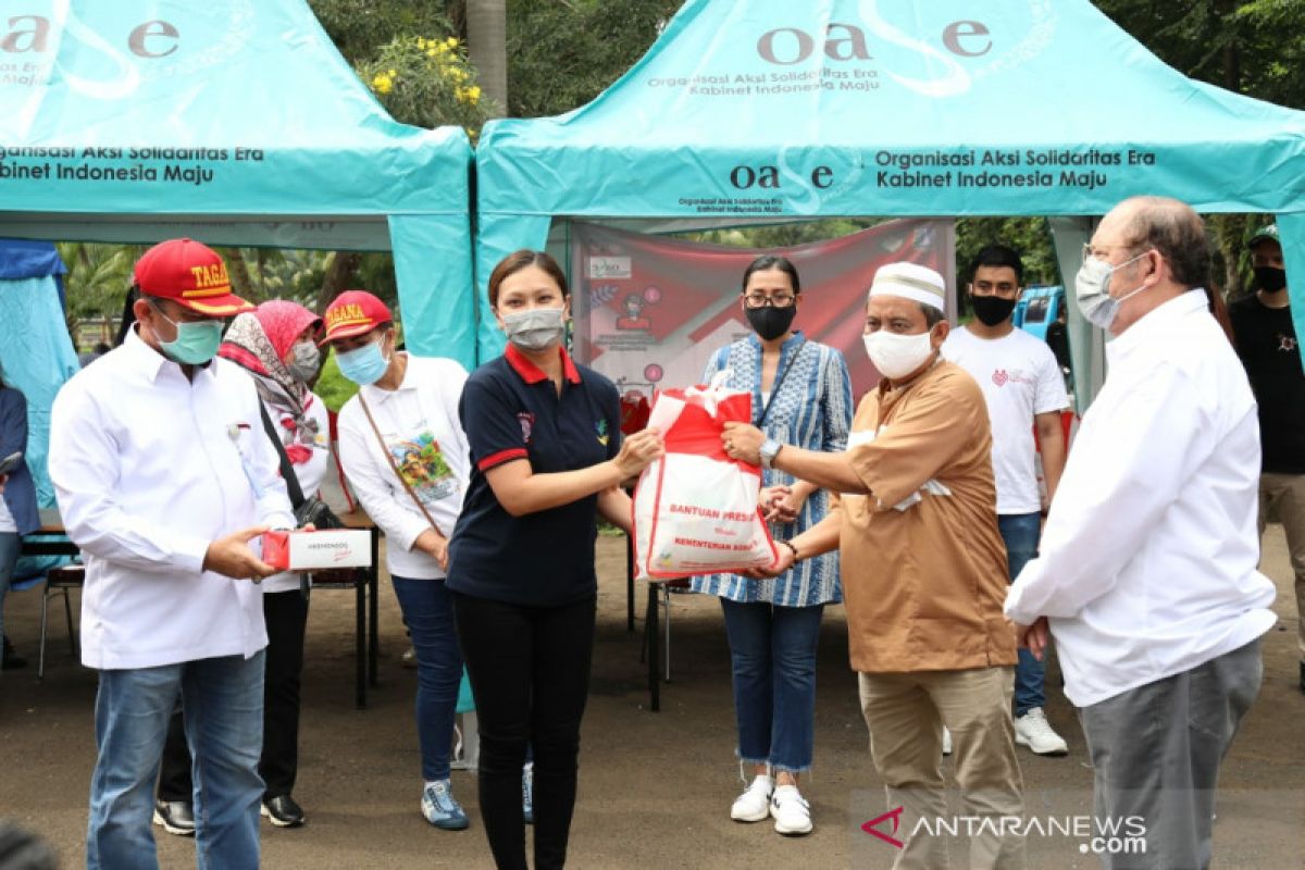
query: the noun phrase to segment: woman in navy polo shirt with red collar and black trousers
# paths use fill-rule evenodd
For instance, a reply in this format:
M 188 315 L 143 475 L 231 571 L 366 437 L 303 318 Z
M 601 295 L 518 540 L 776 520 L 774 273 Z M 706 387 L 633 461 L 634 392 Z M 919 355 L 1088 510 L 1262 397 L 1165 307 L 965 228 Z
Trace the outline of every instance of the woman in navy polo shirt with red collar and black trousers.
M 620 398 L 562 348 L 570 299 L 545 253 L 489 277 L 508 350 L 467 380 L 458 415 L 471 483 L 449 548 L 458 640 L 480 725 L 480 817 L 500 869 L 526 867 L 521 767 L 534 749 L 535 867 L 566 860 L 598 583 L 596 515 L 629 531 L 620 483 L 662 455 L 621 443 Z

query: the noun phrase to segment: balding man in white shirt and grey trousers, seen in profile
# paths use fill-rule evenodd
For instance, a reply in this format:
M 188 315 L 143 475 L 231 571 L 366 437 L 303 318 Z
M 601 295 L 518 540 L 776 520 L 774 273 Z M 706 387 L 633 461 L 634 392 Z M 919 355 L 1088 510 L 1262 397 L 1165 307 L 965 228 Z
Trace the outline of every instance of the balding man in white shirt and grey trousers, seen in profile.
M 1274 584 L 1255 570 L 1255 400 L 1208 279 L 1201 218 L 1174 200 L 1126 200 L 1092 235 L 1075 296 L 1116 337 L 1109 376 L 1041 556 L 1006 597 L 1036 655 L 1048 627 L 1056 638 L 1098 824 L 1146 828 L 1129 867 L 1208 866 L 1219 763 L 1259 691 L 1259 638 L 1275 621 Z

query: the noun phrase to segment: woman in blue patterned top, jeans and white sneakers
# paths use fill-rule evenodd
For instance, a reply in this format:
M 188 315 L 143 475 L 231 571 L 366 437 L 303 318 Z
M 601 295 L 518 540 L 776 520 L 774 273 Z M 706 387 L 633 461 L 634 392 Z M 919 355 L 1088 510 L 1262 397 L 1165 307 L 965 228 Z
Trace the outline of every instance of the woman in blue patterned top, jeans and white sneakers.
M 753 421 L 767 437 L 806 450 L 839 451 L 847 446 L 852 421 L 852 385 L 842 353 L 793 331 L 801 299 L 791 262 L 771 256 L 753 261 L 743 277 L 740 305 L 754 334 L 713 353 L 703 382 L 729 369 L 727 385 L 752 391 Z M 766 470 L 762 483 L 776 541 L 799 535 L 829 511 L 829 493 L 805 481 Z M 808 833 L 810 810 L 797 777 L 812 764 L 821 616 L 826 604 L 843 599 L 838 553 L 800 560 L 767 580 L 697 577 L 693 591 L 720 597 L 739 758 L 753 767 L 753 780 L 729 817 L 737 822 L 773 817 L 779 833 Z

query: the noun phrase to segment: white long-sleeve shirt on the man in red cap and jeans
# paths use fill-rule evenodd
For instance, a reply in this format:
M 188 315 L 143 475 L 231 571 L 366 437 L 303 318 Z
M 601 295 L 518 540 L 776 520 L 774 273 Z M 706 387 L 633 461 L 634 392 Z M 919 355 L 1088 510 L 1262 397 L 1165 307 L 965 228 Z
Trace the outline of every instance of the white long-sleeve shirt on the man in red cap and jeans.
M 86 563 L 82 664 L 248 659 L 268 644 L 262 588 L 202 569 L 218 537 L 294 526 L 244 370 L 218 359 L 188 381 L 129 333 L 55 399 L 50 477 Z

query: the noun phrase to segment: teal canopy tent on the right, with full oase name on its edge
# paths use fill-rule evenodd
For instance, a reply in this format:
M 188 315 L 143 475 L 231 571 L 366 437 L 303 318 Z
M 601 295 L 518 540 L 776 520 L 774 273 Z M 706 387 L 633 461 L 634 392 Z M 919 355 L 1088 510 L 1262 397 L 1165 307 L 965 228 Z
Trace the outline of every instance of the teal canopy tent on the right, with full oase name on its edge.
M 1305 113 L 1185 78 L 1087 0 L 689 0 L 592 103 L 487 124 L 476 162 L 482 283 L 569 217 L 1048 215 L 1073 277 L 1088 217 L 1143 193 L 1278 213 L 1305 277 Z

